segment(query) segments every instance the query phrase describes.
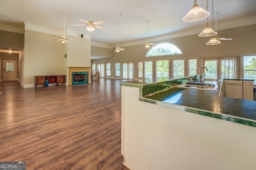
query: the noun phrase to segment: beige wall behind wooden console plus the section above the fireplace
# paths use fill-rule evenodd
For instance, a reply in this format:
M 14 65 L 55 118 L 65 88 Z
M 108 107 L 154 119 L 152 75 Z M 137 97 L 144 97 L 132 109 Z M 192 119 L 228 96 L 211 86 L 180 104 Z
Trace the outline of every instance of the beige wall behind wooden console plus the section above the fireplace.
M 68 36 L 63 44 L 51 37 L 60 36 L 25 30 L 24 87 L 34 86 L 35 75 L 66 75 L 69 82 L 68 67 L 90 67 L 90 40 Z

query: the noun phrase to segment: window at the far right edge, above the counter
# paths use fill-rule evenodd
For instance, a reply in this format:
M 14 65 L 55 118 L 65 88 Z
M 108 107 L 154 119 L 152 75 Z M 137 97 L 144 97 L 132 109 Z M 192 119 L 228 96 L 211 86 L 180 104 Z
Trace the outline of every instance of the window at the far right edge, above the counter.
M 243 56 L 243 76 L 244 79 L 254 79 L 256 85 L 256 55 Z

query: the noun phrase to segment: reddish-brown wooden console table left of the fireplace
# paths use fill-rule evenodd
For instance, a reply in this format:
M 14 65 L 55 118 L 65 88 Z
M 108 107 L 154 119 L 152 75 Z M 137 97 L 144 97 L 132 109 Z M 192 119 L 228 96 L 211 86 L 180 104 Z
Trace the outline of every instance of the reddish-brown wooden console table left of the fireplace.
M 61 83 L 62 85 L 65 83 L 65 75 L 35 75 L 35 87 L 37 85 L 45 85 L 45 80 L 48 80 L 48 83 Z

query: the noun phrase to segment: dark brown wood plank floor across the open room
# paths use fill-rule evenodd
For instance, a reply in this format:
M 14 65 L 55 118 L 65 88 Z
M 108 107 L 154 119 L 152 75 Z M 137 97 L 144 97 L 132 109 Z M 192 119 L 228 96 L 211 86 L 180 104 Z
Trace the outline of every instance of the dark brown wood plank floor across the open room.
M 26 89 L 7 81 L 0 93 L 0 161 L 26 161 L 27 170 L 129 170 L 119 80 Z

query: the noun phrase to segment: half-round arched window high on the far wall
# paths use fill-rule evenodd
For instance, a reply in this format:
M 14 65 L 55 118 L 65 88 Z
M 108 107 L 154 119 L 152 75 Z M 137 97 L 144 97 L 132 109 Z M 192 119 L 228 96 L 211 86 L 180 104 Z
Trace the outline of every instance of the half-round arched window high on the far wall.
M 159 43 L 148 50 L 146 57 L 156 57 L 162 55 L 179 55 L 181 50 L 172 43 Z

